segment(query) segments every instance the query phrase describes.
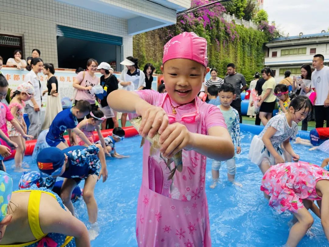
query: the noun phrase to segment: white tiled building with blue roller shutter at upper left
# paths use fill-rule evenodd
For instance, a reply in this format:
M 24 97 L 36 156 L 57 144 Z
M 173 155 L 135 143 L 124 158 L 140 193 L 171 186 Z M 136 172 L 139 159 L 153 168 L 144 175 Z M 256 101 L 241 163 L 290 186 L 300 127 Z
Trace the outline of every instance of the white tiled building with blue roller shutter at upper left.
M 118 64 L 133 54 L 134 34 L 175 24 L 176 12 L 190 4 L 190 0 L 0 0 L 0 55 L 5 64 L 14 49 L 22 49 L 27 58 L 37 48 L 45 62 L 58 67 L 86 60 L 101 48 L 98 60 Z

